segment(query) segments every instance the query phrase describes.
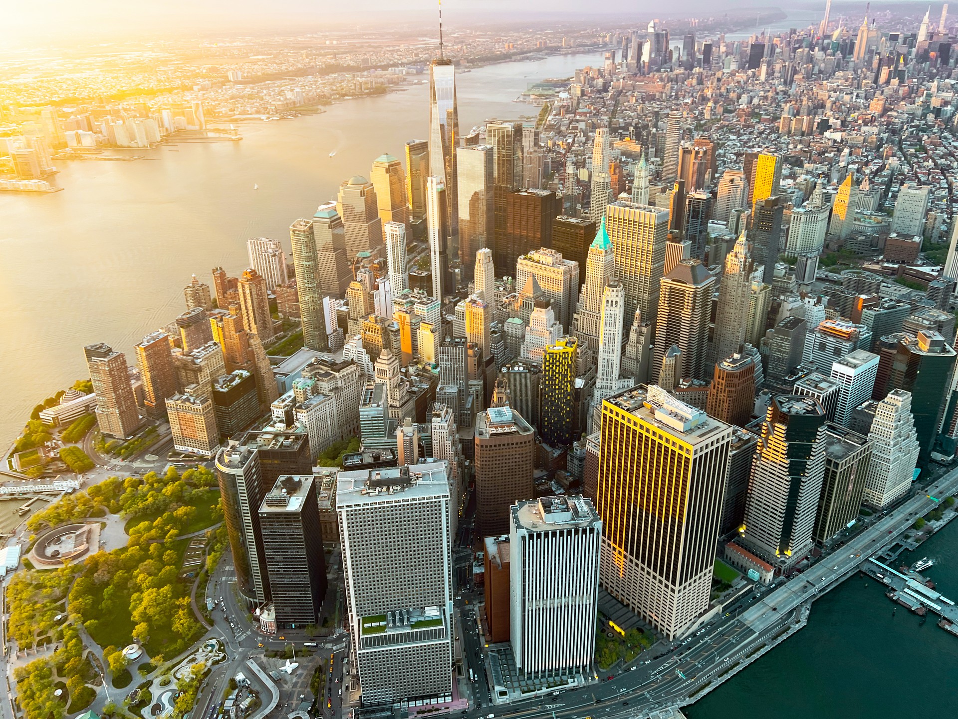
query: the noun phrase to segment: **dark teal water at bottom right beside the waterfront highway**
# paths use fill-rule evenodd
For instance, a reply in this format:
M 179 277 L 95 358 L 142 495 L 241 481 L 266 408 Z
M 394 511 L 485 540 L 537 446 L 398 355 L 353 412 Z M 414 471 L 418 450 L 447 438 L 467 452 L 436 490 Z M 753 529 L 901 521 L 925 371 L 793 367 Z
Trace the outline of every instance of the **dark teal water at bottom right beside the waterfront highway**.
M 958 523 L 903 553 L 896 568 L 922 557 L 936 560 L 923 572 L 936 590 L 958 596 Z M 958 638 L 933 617 L 923 625 L 903 607 L 893 615 L 886 590 L 856 573 L 811 605 L 808 626 L 683 711 L 690 719 L 891 719 L 914 712 L 927 687 L 934 704 L 955 706 Z

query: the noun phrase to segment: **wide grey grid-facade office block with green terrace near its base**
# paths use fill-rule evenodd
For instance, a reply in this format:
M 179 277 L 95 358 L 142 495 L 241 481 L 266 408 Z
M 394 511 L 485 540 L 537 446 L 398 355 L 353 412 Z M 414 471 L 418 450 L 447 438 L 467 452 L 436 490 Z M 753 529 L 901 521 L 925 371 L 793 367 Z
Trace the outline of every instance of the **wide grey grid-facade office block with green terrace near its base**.
M 445 462 L 341 472 L 346 610 L 364 706 L 452 692 Z

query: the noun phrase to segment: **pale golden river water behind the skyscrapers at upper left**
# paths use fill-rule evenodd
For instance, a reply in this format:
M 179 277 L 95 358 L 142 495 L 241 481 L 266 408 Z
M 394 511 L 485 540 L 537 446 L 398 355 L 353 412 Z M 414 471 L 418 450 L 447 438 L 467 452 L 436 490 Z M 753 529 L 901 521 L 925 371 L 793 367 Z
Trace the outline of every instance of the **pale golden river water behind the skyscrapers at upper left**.
M 529 83 L 602 58 L 464 72 L 460 126 L 535 116 L 537 107 L 512 102 Z M 409 84 L 319 115 L 241 125 L 237 143 L 162 146 L 135 162 L 60 161 L 65 189 L 53 195 L 0 193 L 0 444 L 38 401 L 87 376 L 83 345 L 107 342 L 133 363 L 133 345 L 185 309 L 191 273 L 209 283 L 212 267 L 242 271 L 248 237 L 281 239 L 288 251 L 293 220 L 312 217 L 342 180 L 368 177 L 379 154 L 402 158 L 427 123 L 428 86 Z

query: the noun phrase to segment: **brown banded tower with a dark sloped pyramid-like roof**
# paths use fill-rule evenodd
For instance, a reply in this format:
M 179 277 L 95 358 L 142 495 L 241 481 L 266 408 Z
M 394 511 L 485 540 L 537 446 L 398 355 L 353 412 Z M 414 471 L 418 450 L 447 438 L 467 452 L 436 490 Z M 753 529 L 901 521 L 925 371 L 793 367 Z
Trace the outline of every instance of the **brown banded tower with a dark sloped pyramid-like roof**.
M 709 315 L 715 284 L 715 275 L 698 260 L 682 260 L 662 278 L 655 323 L 653 377 L 658 377 L 662 358 L 675 345 L 682 352 L 682 376 L 696 380 L 706 378 Z

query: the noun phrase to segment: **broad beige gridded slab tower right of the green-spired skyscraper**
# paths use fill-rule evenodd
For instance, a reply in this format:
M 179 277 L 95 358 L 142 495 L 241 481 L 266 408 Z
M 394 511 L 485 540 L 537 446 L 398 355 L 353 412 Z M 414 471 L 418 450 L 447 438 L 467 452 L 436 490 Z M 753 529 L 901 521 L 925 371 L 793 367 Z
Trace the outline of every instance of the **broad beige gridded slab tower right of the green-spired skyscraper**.
M 668 210 L 618 200 L 608 206 L 605 229 L 615 255 L 616 277 L 626 290 L 626 316 L 638 309 L 654 326 L 669 234 Z

